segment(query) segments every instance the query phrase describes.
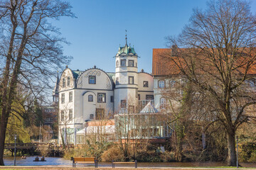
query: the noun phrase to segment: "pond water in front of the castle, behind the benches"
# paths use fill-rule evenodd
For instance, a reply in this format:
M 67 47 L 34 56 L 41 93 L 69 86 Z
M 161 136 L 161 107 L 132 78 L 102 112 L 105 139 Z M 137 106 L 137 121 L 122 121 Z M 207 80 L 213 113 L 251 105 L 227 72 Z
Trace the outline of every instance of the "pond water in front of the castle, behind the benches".
M 60 157 L 46 157 L 46 162 L 33 162 L 36 157 L 21 159 L 16 157 L 17 166 L 68 166 L 72 167 L 72 161 Z M 39 157 L 40 158 L 40 157 Z M 5 157 L 6 166 L 14 165 L 14 157 Z M 88 164 L 76 164 L 78 167 L 88 166 Z M 139 167 L 193 167 L 193 166 L 226 166 L 226 162 L 139 162 Z M 240 163 L 243 167 L 256 167 L 256 164 Z M 112 167 L 111 162 L 99 162 L 98 166 Z M 117 164 L 116 167 L 132 166 L 133 164 Z

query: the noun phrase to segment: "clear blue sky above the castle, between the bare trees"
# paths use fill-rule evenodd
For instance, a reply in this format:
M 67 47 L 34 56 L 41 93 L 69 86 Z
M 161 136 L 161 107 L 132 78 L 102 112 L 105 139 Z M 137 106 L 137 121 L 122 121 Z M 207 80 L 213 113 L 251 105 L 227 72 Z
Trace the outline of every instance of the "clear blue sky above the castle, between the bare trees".
M 114 72 L 114 55 L 119 45 L 134 45 L 140 56 L 139 71 L 151 73 L 153 48 L 166 47 L 166 36 L 178 35 L 193 12 L 206 8 L 206 0 L 69 0 L 78 18 L 61 18 L 54 23 L 63 37 L 64 54 L 73 56 L 68 67 Z M 251 1 L 252 13 L 256 1 Z

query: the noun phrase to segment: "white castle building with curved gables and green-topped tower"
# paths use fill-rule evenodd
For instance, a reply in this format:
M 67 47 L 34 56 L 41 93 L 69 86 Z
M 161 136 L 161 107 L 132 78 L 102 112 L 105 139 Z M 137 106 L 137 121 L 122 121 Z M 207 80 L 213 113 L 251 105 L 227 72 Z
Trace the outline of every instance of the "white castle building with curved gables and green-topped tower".
M 85 71 L 66 67 L 61 73 L 53 91 L 53 100 L 59 106 L 60 140 L 65 134 L 72 138 L 71 134 L 84 128 L 87 121 L 139 113 L 144 101 L 154 100 L 153 77 L 143 70 L 138 72 L 138 55 L 134 47 L 127 45 L 127 38 L 124 47 L 119 47 L 113 66 L 115 72 L 97 67 Z

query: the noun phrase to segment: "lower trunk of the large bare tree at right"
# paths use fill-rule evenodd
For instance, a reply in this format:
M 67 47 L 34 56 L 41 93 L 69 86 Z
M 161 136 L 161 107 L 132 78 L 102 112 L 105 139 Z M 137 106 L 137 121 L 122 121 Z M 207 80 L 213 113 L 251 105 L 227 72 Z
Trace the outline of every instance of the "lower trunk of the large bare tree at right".
M 228 166 L 236 166 L 235 130 L 228 132 Z

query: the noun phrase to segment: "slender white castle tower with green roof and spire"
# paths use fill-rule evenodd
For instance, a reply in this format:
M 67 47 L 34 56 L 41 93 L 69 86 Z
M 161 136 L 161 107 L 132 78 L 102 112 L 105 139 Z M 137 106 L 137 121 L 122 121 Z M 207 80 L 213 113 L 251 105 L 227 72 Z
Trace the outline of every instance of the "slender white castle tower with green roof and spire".
M 133 47 L 119 47 L 115 56 L 114 112 L 134 113 L 138 104 L 138 55 Z

